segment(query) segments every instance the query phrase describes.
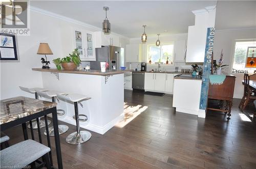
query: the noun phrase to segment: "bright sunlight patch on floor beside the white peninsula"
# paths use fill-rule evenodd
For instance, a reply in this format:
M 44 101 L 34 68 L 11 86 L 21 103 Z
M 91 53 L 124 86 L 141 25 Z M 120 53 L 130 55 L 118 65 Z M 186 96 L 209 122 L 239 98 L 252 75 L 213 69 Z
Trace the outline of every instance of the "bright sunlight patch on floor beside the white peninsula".
M 118 128 L 123 128 L 126 124 L 130 123 L 133 119 L 139 116 L 141 112 L 145 111 L 146 109 L 147 109 L 147 106 L 142 106 L 139 104 L 136 106 L 130 106 L 124 102 L 124 106 L 123 106 L 124 117 L 115 126 Z

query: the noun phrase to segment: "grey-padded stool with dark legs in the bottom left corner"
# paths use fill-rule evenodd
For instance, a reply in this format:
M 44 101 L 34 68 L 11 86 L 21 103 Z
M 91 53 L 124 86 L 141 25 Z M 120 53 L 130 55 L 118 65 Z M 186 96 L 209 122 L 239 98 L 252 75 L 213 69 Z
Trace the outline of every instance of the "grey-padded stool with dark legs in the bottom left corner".
M 27 139 L 0 151 L 0 168 L 26 168 L 27 165 L 44 156 L 46 167 L 50 169 L 50 151 L 49 147 Z

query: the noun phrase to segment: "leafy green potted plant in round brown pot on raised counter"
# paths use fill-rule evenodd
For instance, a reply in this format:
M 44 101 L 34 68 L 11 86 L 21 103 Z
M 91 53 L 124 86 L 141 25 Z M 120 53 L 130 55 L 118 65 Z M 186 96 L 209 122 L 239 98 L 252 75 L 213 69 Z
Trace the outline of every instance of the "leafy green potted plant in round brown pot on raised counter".
M 75 70 L 81 63 L 79 55 L 80 53 L 78 52 L 78 49 L 74 49 L 74 51 L 72 51 L 68 57 L 54 59 L 53 63 L 56 65 L 58 70 L 61 70 L 61 67 L 64 70 Z

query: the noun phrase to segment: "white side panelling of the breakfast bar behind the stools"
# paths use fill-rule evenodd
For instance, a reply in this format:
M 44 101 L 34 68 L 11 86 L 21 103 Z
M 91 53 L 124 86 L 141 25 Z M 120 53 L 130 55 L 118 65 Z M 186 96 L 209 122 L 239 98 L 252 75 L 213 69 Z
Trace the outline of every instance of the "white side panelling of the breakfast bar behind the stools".
M 78 104 L 79 114 L 87 115 L 89 118 L 87 122 L 80 122 L 80 127 L 103 134 L 114 126 L 112 124 L 113 122 L 106 121 L 110 120 L 109 117 L 113 118 L 121 113 L 120 107 L 123 107 L 123 100 L 115 97 L 118 93 L 113 92 L 113 89 L 123 88 L 123 74 L 110 76 L 108 82 L 111 82 L 111 78 L 117 78 L 117 81 L 119 81 L 119 83 L 112 82 L 111 85 L 108 82 L 105 84 L 105 76 L 100 75 L 72 73 L 58 73 L 58 75 L 59 79 L 50 72 L 42 72 L 43 87 L 49 90 L 77 93 L 91 97 L 91 99 L 81 102 L 83 107 Z M 114 95 L 112 99 L 110 99 L 111 94 Z M 112 102 L 116 103 L 116 105 Z M 106 107 L 106 105 L 114 106 L 112 108 L 113 111 L 109 111 L 108 109 L 110 107 Z M 75 120 L 72 118 L 74 115 L 74 104 L 72 102 L 68 103 L 67 101 L 60 100 L 58 108 L 66 111 L 65 116 L 58 117 L 58 120 L 73 125 L 76 124 Z M 115 118 L 118 119 L 119 116 Z M 106 126 L 108 123 L 110 124 Z M 105 127 L 108 127 L 108 129 Z

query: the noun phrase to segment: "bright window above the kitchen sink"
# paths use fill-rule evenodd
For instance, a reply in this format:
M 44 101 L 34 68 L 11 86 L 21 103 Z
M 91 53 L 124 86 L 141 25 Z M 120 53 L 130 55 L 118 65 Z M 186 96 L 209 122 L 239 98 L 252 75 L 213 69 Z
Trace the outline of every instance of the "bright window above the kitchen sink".
M 174 45 L 173 43 L 166 43 L 160 46 L 156 44 L 147 45 L 147 63 L 151 61 L 151 64 L 168 64 L 173 63 Z

